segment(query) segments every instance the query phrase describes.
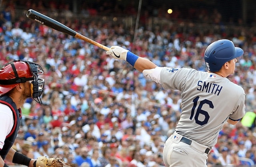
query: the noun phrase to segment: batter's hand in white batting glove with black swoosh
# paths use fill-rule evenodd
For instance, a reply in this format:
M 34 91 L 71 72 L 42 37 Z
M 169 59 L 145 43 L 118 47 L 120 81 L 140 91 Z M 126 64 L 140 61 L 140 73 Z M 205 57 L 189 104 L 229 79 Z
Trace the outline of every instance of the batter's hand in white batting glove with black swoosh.
M 112 46 L 109 51 L 106 51 L 106 54 L 112 56 L 114 59 L 126 61 L 127 52 L 128 50 L 120 46 Z

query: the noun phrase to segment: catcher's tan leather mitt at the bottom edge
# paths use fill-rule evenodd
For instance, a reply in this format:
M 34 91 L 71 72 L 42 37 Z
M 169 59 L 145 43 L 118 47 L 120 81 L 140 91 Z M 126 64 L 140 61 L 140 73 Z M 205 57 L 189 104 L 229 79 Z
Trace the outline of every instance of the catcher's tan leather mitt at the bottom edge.
M 36 167 L 71 167 L 70 164 L 63 161 L 63 159 L 54 157 L 37 157 L 36 159 Z

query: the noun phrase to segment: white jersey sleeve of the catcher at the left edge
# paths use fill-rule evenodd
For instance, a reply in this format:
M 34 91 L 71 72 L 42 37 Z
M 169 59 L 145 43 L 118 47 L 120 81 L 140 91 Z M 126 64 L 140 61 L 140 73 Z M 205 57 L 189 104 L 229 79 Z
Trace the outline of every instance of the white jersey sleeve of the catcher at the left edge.
M 12 131 L 14 118 L 12 110 L 8 106 L 1 104 L 0 107 L 0 127 L 2 127 L 0 133 L 0 149 L 2 149 L 6 136 Z

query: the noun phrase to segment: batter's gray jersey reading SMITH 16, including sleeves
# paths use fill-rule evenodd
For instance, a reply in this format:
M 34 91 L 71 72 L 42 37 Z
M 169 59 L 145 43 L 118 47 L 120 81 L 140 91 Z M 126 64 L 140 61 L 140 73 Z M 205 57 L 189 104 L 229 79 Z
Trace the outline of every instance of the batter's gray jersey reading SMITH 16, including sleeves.
M 176 132 L 200 144 L 214 146 L 226 120 L 245 114 L 244 89 L 215 73 L 164 67 L 160 80 L 163 88 L 181 91 Z

